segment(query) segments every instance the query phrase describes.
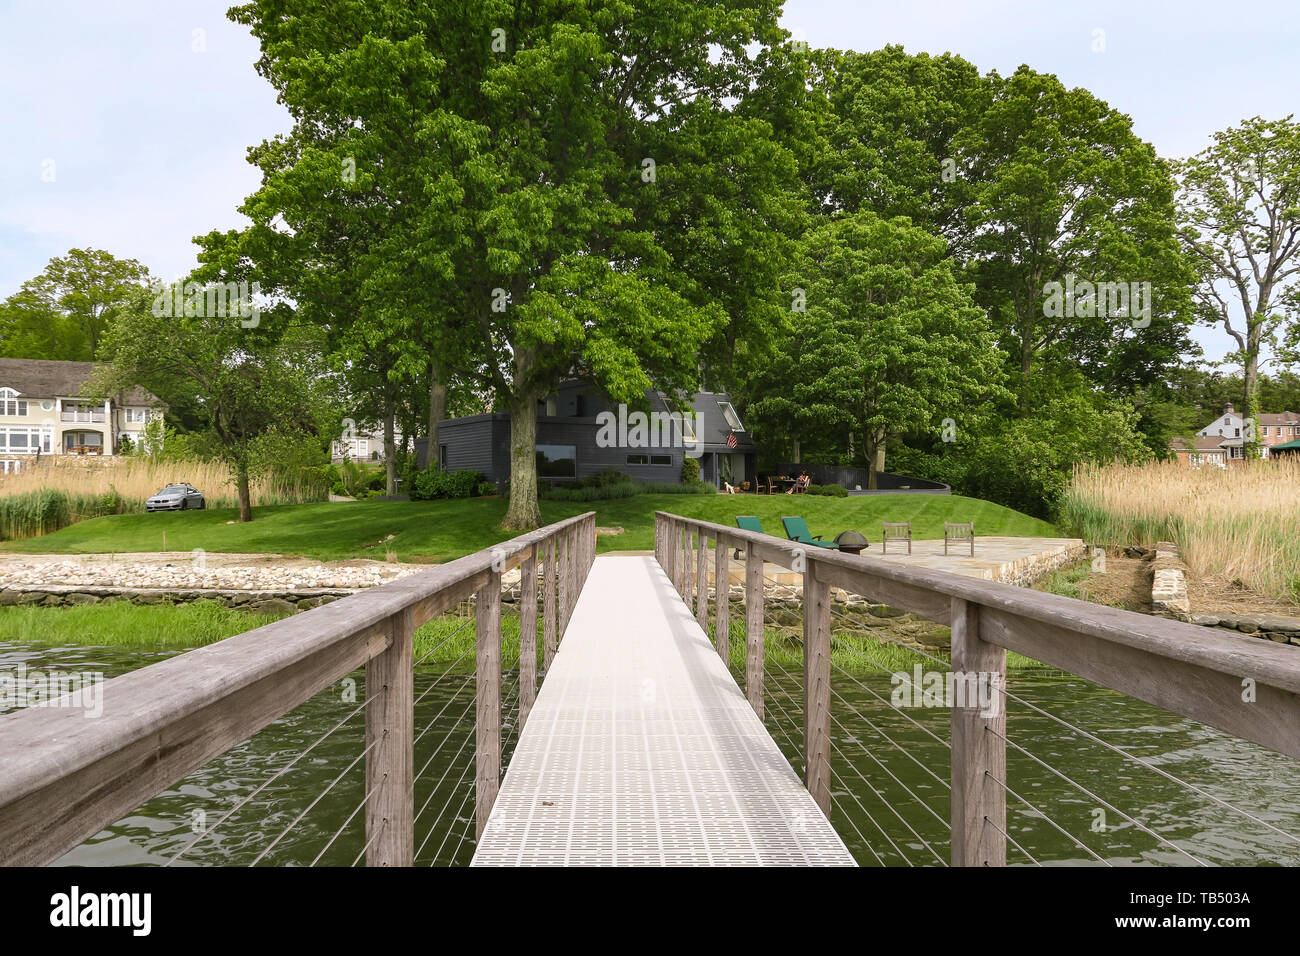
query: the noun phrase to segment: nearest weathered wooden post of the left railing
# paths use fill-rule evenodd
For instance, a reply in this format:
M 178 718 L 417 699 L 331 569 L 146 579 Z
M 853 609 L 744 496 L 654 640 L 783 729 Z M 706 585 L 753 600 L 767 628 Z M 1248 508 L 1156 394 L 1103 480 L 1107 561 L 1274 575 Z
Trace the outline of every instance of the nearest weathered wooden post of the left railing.
M 365 865 L 411 866 L 415 857 L 415 624 L 389 619 L 389 649 L 365 662 Z

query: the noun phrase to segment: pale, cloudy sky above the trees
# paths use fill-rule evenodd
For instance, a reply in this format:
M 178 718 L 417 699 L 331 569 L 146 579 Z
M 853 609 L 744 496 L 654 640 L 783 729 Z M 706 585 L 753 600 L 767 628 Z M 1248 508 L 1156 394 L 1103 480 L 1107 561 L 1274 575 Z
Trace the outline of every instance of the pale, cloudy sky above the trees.
M 257 185 L 244 150 L 289 117 L 229 5 L 0 0 L 0 298 L 72 247 L 176 278 L 194 235 L 242 224 L 235 206 Z M 789 0 L 784 25 L 814 47 L 1056 73 L 1170 157 L 1300 109 L 1296 0 Z M 1212 356 L 1228 347 L 1222 332 L 1197 337 Z

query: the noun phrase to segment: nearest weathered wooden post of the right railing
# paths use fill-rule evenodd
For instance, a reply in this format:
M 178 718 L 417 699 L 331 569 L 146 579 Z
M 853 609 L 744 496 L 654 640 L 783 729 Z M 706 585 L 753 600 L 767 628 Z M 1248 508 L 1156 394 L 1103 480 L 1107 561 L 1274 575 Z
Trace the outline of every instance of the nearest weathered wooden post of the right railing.
M 1006 866 L 1006 648 L 980 637 L 979 605 L 961 598 L 952 631 L 954 687 L 965 688 L 952 718 L 953 866 Z

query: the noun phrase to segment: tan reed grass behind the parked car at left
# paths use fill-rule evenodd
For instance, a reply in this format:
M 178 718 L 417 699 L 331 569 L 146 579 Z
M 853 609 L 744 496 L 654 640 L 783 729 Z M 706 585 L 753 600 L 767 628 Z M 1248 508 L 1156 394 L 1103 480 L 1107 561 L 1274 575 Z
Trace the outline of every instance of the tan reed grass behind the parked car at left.
M 230 470 L 218 462 L 122 458 L 84 467 L 46 462 L 0 476 L 0 537 L 36 537 L 87 518 L 139 512 L 146 498 L 176 481 L 203 492 L 208 507 L 239 503 Z M 254 506 L 300 505 L 324 501 L 329 486 L 322 471 L 302 470 L 259 479 L 251 492 Z

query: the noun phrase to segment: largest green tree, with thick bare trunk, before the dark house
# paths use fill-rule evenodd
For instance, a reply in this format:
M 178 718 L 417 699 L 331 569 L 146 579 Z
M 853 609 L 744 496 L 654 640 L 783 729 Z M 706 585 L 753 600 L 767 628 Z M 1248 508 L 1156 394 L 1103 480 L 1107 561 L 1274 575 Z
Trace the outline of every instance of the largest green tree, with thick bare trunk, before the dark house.
M 325 248 L 326 271 L 344 260 L 341 245 L 361 246 L 346 260 L 363 321 L 393 329 L 395 312 L 410 315 L 399 303 L 413 298 L 446 324 L 434 347 L 464 360 L 454 371 L 511 412 L 504 525 L 534 527 L 538 399 L 575 375 L 615 401 L 690 388 L 701 347 L 724 325 L 722 306 L 696 294 L 638 211 L 664 181 L 708 189 L 673 181 L 671 157 L 654 155 L 655 124 L 696 104 L 705 121 L 710 104 L 722 116 L 742 99 L 758 69 L 754 44 L 784 38 L 780 7 L 359 0 L 346 16 L 337 7 L 256 0 L 233 10 L 261 42 L 259 69 L 295 117 L 286 143 L 264 147 L 264 170 L 285 185 L 254 220 L 274 230 L 282 216 L 283 258 L 309 264 Z M 748 124 L 736 135 L 733 151 L 745 155 L 764 130 Z M 324 189 L 347 150 L 355 183 Z M 291 196 L 302 166 L 318 168 L 306 177 L 316 187 Z M 309 203 L 317 225 L 304 230 Z M 381 215 L 386 242 L 369 232 Z M 358 220 L 365 228 L 354 229 Z M 408 339 L 437 338 L 419 333 Z

